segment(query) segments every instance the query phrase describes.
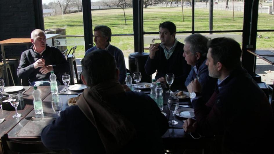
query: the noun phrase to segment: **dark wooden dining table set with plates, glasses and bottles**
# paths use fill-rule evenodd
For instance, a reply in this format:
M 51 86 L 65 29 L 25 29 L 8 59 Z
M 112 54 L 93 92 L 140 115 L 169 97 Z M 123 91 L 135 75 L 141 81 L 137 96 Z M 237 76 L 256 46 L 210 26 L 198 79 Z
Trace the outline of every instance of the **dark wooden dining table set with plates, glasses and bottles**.
M 33 108 L 33 87 L 26 87 L 28 90 L 26 90 L 23 93 L 23 98 L 25 102 L 25 108 L 23 110 L 18 110 L 18 113 L 21 113 L 22 116 L 19 118 L 12 118 L 12 115 L 15 114 L 15 111 L 6 111 L 6 110 L 0 110 L 0 119 L 5 118 L 6 120 L 0 124 L 0 137 L 1 137 L 1 143 L 2 143 L 2 150 L 8 151 L 8 143 L 20 143 L 20 144 L 26 144 L 28 146 L 20 147 L 20 151 L 24 152 L 24 150 L 28 151 L 30 148 L 33 148 L 34 146 L 39 145 L 37 148 L 40 150 L 47 149 L 43 146 L 41 142 L 40 136 L 18 136 L 18 132 L 32 119 L 32 117 L 36 118 L 57 118 L 57 114 L 52 109 L 51 100 L 52 95 L 50 91 L 50 86 L 41 86 L 38 87 L 38 89 L 41 90 L 41 99 L 43 104 L 43 115 L 36 115 Z M 58 86 L 58 90 L 63 90 L 64 86 Z M 143 90 L 146 94 L 149 93 L 150 90 L 146 89 Z M 68 106 L 68 99 L 72 97 L 76 97 L 77 94 L 74 95 L 59 95 L 59 98 L 62 99 L 63 102 L 63 108 L 62 110 L 65 110 Z M 163 93 L 164 98 L 164 109 L 163 112 L 167 114 L 167 119 L 172 120 L 172 114 L 168 110 L 167 101 L 170 97 L 170 94 Z M 189 98 L 187 99 L 180 99 L 179 104 L 190 104 Z M 164 145 L 174 146 L 175 144 L 178 144 L 178 147 L 190 147 L 192 145 L 193 148 L 197 148 L 197 146 L 203 147 L 203 143 L 206 142 L 204 139 L 193 139 L 188 133 L 184 132 L 184 129 L 182 128 L 183 120 L 186 120 L 187 118 L 181 118 L 175 115 L 175 120 L 179 123 L 177 125 L 169 125 L 169 129 L 166 131 L 166 133 L 162 136 L 162 139 L 164 141 Z M 35 128 L 33 128 L 35 129 Z M 171 144 L 172 143 L 172 144 Z M 193 146 L 195 145 L 195 146 Z M 25 151 L 25 152 L 26 152 Z M 48 150 L 47 152 L 50 152 Z M 0 151 L 1 153 L 1 151 Z

